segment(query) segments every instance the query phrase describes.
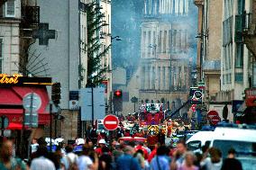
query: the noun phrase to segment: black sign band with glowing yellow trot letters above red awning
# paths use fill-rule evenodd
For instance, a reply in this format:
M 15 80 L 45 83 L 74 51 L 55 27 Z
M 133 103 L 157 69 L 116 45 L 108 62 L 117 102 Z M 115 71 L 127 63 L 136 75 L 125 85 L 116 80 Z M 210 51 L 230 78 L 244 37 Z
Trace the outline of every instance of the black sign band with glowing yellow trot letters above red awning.
M 0 74 L 0 86 L 12 85 L 52 85 L 51 77 L 28 77 L 20 74 L 9 76 L 7 74 Z

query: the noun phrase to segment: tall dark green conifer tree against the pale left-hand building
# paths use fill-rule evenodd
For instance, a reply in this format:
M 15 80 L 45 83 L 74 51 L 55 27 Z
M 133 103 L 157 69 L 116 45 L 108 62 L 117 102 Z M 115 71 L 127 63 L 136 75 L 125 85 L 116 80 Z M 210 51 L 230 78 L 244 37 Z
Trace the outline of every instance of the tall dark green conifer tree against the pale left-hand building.
M 100 12 L 101 7 L 95 2 L 87 4 L 87 82 L 100 85 L 105 80 L 107 67 L 101 65 L 101 60 L 110 49 L 109 45 L 100 50 L 102 44 L 99 40 L 99 32 L 107 24 L 103 20 L 105 15 Z

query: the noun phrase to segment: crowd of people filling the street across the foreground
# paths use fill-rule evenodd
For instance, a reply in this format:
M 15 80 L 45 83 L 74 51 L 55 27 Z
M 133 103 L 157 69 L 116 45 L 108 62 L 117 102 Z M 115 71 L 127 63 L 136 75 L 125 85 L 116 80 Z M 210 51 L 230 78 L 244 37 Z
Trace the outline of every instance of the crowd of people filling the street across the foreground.
M 79 146 L 79 147 L 78 147 Z M 0 147 L 1 170 L 241 170 L 242 165 L 235 158 L 235 150 L 229 150 L 228 157 L 222 157 L 218 148 L 202 148 L 203 153 L 187 150 L 183 140 L 176 148 L 157 143 L 148 148 L 145 143 L 135 145 L 107 144 L 99 139 L 84 141 L 79 145 L 59 143 L 54 152 L 47 148 L 45 139 L 37 139 L 29 160 L 14 157 L 13 141 L 5 140 Z

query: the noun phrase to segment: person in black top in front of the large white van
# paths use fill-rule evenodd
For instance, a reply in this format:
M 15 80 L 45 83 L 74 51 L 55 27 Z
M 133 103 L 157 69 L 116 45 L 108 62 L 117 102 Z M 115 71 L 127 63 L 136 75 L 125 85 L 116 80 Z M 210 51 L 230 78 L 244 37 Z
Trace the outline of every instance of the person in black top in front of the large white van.
M 223 166 L 221 170 L 242 170 L 241 162 L 235 158 L 234 148 L 230 148 L 228 151 L 227 158 L 224 159 Z

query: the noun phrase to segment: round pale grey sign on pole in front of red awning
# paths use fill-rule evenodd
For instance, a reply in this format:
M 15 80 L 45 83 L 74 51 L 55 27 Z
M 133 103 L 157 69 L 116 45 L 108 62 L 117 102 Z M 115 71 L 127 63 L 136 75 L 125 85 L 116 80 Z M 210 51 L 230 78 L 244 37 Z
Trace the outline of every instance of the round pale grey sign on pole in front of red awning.
M 23 108 L 26 111 L 36 112 L 41 107 L 41 97 L 36 93 L 29 93 L 23 97 Z

